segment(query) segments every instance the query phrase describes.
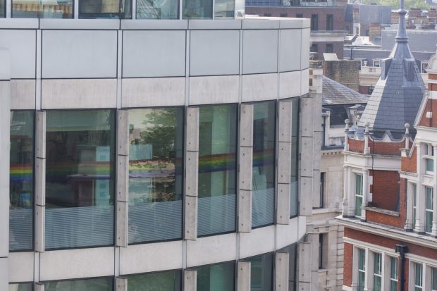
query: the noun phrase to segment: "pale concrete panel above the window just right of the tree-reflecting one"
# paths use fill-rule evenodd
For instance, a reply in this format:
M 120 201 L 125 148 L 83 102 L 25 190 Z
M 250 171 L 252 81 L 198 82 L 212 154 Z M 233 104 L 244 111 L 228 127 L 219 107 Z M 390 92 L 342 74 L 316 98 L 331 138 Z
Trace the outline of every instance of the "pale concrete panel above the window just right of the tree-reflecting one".
M 191 77 L 190 105 L 238 103 L 238 75 Z

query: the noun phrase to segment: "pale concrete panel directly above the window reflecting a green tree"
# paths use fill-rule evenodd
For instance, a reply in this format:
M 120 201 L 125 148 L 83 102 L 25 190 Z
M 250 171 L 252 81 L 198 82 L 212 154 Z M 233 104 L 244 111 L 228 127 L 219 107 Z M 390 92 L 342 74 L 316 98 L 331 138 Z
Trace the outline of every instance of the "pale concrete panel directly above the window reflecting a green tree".
M 181 106 L 185 78 L 131 78 L 122 80 L 122 107 Z

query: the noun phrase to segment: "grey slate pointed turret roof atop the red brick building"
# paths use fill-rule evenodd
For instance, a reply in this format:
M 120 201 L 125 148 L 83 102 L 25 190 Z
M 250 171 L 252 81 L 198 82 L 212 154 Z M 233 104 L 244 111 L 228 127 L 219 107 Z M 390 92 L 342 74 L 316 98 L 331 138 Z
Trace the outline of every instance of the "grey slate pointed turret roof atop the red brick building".
M 405 131 L 405 123 L 414 124 L 424 97 L 424 81 L 408 47 L 404 0 L 400 0 L 398 14 L 395 46 L 390 56 L 382 61 L 381 77 L 359 120 L 360 127 L 369 123 L 369 129 L 375 137 L 382 137 L 385 132 L 400 137 Z M 410 131 L 414 134 L 414 130 Z

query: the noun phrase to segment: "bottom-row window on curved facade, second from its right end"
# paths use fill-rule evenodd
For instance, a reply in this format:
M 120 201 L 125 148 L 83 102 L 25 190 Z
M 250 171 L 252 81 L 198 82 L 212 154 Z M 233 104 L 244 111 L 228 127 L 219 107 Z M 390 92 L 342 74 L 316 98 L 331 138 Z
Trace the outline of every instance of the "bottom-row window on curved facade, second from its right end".
M 273 253 L 245 259 L 250 261 L 250 290 L 273 290 Z

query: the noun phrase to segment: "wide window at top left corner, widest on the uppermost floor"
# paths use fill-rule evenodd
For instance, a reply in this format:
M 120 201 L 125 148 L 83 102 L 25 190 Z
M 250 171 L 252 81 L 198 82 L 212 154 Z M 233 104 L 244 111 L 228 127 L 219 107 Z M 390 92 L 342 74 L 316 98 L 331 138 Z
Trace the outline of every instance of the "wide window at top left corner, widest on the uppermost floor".
M 13 18 L 73 18 L 73 0 L 12 0 Z

